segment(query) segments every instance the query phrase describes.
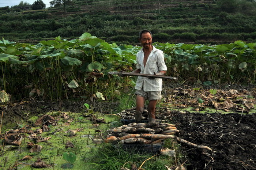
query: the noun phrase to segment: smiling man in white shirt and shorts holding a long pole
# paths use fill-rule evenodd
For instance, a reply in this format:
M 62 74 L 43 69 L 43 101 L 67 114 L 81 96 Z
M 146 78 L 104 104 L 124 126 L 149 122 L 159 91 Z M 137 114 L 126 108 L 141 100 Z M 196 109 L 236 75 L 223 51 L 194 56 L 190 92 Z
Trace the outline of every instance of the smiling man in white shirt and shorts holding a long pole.
M 139 33 L 139 41 L 143 48 L 136 56 L 136 70 L 133 73 L 164 75 L 167 67 L 165 65 L 163 52 L 156 49 L 152 43 L 152 34 L 148 30 L 142 30 Z M 161 99 L 162 79 L 138 77 L 136 82 L 136 113 L 135 121 L 140 122 L 144 108 L 145 99 L 148 103 L 148 120 L 150 123 L 155 122 L 155 106 L 157 100 Z

